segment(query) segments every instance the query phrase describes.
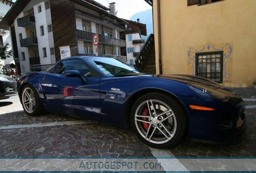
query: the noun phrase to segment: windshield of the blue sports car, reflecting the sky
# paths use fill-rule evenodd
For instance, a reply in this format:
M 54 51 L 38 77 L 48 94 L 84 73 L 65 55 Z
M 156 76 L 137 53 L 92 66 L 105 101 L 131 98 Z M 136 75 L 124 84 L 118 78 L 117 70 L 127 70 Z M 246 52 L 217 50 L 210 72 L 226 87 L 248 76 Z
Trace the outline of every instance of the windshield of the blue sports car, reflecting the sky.
M 136 68 L 114 58 L 91 58 L 89 62 L 105 76 L 131 76 L 141 74 Z

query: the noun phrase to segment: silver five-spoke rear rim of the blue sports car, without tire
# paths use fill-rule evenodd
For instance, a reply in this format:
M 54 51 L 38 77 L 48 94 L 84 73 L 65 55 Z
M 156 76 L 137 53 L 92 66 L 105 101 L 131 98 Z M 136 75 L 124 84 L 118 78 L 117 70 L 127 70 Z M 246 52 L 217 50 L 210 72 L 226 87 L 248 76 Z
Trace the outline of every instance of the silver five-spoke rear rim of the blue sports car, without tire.
M 22 104 L 28 113 L 33 113 L 35 110 L 35 95 L 30 88 L 25 88 L 22 93 Z

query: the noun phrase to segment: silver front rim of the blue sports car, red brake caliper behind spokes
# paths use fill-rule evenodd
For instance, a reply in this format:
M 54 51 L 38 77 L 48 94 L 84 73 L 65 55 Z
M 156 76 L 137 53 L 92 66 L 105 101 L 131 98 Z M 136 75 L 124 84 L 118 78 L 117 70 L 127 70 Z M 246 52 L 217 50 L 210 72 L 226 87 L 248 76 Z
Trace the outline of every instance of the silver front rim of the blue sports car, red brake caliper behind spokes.
M 149 115 L 142 115 L 145 108 Z M 147 100 L 141 103 L 136 109 L 134 121 L 140 135 L 155 144 L 170 141 L 177 129 L 173 111 L 168 105 L 158 100 Z M 143 123 L 148 124 L 148 129 Z

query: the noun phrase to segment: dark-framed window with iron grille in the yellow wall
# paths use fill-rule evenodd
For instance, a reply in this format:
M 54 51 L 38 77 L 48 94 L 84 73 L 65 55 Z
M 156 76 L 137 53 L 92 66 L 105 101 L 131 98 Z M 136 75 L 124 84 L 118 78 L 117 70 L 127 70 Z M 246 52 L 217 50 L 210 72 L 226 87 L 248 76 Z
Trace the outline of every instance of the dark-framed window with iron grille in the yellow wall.
M 196 53 L 196 76 L 223 81 L 223 51 Z

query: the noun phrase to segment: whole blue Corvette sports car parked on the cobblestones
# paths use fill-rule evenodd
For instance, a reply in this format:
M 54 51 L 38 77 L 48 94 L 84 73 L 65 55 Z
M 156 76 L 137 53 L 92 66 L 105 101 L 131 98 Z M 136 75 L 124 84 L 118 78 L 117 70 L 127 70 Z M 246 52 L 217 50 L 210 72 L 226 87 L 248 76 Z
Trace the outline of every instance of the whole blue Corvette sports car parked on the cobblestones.
M 90 118 L 132 128 L 147 145 L 182 139 L 225 142 L 245 130 L 245 106 L 206 78 L 145 74 L 113 58 L 70 57 L 44 72 L 27 72 L 17 88 L 24 111 Z

